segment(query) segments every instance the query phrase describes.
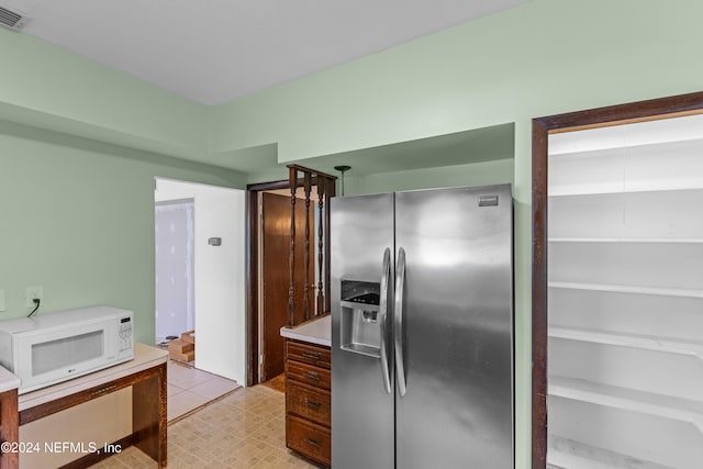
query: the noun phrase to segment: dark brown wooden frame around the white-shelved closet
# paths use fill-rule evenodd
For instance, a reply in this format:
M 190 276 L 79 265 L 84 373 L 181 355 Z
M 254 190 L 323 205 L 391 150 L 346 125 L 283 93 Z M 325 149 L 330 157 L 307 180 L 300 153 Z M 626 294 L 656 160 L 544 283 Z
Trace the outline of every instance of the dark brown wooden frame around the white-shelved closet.
M 547 466 L 547 182 L 550 133 L 700 114 L 703 92 L 590 109 L 532 121 L 532 468 Z

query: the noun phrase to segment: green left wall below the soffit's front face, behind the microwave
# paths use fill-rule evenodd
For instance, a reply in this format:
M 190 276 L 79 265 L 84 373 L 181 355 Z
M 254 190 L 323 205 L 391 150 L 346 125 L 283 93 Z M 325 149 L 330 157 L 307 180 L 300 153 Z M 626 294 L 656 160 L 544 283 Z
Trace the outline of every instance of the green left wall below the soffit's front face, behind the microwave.
M 42 312 L 125 308 L 153 343 L 154 178 L 241 188 L 244 176 L 7 121 L 0 148 L 0 319 L 26 315 L 25 289 L 41 286 Z

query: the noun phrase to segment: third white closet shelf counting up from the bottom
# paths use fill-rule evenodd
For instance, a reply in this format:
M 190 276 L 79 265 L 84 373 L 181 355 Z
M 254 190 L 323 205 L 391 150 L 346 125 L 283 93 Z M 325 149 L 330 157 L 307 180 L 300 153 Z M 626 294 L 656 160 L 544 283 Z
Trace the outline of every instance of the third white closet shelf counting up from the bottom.
M 549 337 L 639 348 L 641 350 L 654 350 L 665 354 L 689 355 L 703 361 L 703 342 L 556 326 L 549 327 Z

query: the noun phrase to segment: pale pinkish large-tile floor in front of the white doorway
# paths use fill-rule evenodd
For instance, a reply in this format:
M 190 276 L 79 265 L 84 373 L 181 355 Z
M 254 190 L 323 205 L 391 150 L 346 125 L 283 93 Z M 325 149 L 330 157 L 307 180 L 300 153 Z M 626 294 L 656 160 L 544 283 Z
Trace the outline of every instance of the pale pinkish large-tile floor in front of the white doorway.
M 236 381 L 169 360 L 168 421 L 180 418 L 237 388 Z

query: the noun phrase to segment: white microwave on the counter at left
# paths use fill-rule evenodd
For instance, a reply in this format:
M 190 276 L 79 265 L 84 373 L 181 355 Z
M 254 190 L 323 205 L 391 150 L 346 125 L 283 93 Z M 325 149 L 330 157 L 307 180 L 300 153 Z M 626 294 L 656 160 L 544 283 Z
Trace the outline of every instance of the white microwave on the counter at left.
M 134 358 L 132 311 L 111 306 L 0 321 L 0 365 L 19 393 Z

